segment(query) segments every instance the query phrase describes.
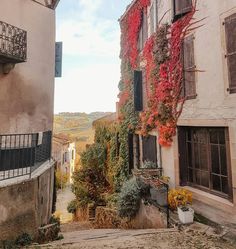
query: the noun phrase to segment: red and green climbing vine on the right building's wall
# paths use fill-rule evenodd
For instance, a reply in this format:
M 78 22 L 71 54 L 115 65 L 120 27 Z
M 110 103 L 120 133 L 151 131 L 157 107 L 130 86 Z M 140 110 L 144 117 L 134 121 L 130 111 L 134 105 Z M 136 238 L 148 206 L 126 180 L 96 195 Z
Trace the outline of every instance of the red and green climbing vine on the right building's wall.
M 143 135 L 156 129 L 159 143 L 170 146 L 176 134 L 178 118 L 182 112 L 184 97 L 181 96 L 183 65 L 181 46 L 183 40 L 193 28 L 191 23 L 196 11 L 196 2 L 192 11 L 172 25 L 160 25 L 145 43 L 141 56 L 138 53 L 138 35 L 141 27 L 142 11 L 146 11 L 150 1 L 137 1 L 121 20 L 121 87 L 120 117 L 127 128 L 139 128 Z M 132 101 L 133 70 L 138 69 L 138 61 L 146 63 L 146 92 L 148 105 L 137 120 L 127 115 L 127 106 Z M 134 110 L 129 104 L 131 111 Z M 123 111 L 122 111 L 123 110 Z M 130 112 L 128 113 L 130 114 Z M 133 111 L 133 113 L 135 113 Z M 137 114 L 137 113 L 136 113 Z

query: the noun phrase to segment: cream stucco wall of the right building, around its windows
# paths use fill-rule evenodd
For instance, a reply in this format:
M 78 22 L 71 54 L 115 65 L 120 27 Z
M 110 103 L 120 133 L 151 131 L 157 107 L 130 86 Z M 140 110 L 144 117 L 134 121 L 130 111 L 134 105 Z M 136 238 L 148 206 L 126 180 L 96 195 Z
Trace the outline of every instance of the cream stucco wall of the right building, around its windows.
M 158 20 L 171 23 L 173 8 L 171 0 L 158 1 Z M 197 98 L 187 100 L 178 125 L 227 127 L 230 140 L 230 163 L 232 169 L 233 202 L 190 188 L 198 212 L 213 220 L 235 222 L 236 220 L 236 94 L 229 94 L 227 88 L 228 70 L 225 58 L 224 18 L 236 13 L 235 0 L 198 0 L 196 20 L 202 20 L 202 27 L 194 34 L 194 57 Z M 179 154 L 177 137 L 171 148 L 162 148 L 164 175 L 170 177 L 171 187 L 179 185 Z M 225 212 L 227 210 L 227 212 Z

